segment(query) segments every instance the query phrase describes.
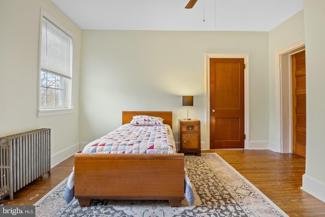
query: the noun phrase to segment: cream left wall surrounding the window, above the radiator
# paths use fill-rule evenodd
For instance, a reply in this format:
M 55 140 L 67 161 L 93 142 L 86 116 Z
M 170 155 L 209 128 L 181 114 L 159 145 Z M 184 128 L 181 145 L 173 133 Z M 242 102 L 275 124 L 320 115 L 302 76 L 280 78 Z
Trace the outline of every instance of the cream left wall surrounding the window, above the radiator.
M 37 117 L 41 8 L 74 34 L 74 113 Z M 81 29 L 49 0 L 0 0 L 0 136 L 52 130 L 52 165 L 79 150 Z

